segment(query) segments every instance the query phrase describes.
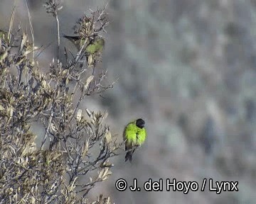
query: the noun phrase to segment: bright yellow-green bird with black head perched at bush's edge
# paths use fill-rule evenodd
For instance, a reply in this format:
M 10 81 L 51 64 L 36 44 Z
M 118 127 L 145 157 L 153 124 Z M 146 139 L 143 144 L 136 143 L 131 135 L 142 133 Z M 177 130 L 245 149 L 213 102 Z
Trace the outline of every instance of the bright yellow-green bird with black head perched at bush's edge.
M 132 154 L 134 153 L 137 147 L 140 147 L 146 140 L 146 129 L 144 128 L 145 121 L 141 118 L 134 120 L 124 128 L 123 138 L 125 151 L 127 154 L 125 155 L 124 162 L 132 162 Z

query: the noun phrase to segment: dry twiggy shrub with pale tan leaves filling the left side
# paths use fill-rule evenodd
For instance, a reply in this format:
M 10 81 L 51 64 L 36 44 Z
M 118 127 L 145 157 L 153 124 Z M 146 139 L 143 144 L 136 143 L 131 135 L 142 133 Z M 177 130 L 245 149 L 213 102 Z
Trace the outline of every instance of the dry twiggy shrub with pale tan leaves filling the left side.
M 13 15 L 9 33 L 0 38 L 0 203 L 91 203 L 87 193 L 108 179 L 110 158 L 121 145 L 105 124 L 107 112 L 79 109 L 84 98 L 113 86 L 104 85 L 106 72 L 92 74 L 100 55 L 88 66 L 82 52 L 104 33 L 105 8 L 80 18 L 75 33 L 85 44 L 75 56 L 66 52 L 65 62 L 59 60 L 60 9 L 56 1 L 46 4 L 58 42 L 49 69 L 36 61 L 41 49 L 28 37 L 32 26 L 31 33 L 13 28 Z M 43 138 L 36 138 L 31 123 L 43 125 Z M 92 203 L 110 203 L 110 198 L 99 195 Z

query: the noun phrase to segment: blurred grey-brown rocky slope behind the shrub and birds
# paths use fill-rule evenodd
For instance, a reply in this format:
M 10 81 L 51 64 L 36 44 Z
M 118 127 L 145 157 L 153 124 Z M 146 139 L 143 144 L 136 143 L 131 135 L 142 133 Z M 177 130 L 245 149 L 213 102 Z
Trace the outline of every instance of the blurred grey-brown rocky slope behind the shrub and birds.
M 0 1 L 0 26 L 8 28 L 14 5 L 16 26 L 28 28 L 25 1 Z M 114 160 L 112 177 L 90 193 L 114 203 L 255 203 L 256 200 L 256 1 L 240 0 L 63 0 L 61 33 L 88 8 L 108 2 L 110 26 L 102 60 L 108 81 L 103 97 L 84 108 L 107 110 L 112 134 L 144 118 L 146 144 L 124 164 Z M 55 55 L 55 22 L 43 1 L 28 1 L 38 57 L 48 66 Z M 63 47 L 75 50 L 62 39 Z M 239 192 L 140 192 L 115 189 L 117 179 L 139 185 L 153 179 L 238 181 Z M 208 187 L 208 183 L 206 185 Z

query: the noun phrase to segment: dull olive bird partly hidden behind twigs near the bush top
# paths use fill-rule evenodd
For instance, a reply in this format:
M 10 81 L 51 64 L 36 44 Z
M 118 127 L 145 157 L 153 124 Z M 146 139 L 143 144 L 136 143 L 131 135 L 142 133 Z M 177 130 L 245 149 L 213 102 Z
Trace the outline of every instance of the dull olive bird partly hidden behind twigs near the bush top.
M 80 50 L 82 45 L 85 44 L 85 38 L 81 38 L 80 36 L 63 35 L 63 38 L 67 38 L 68 40 L 73 42 L 73 44 L 75 45 L 75 47 L 77 47 L 78 50 Z M 92 42 L 89 42 L 87 45 L 85 45 L 85 49 L 82 50 L 82 52 L 85 52 L 87 62 L 90 61 L 88 62 L 88 64 L 93 64 L 93 62 L 95 62 L 93 58 L 97 54 L 102 52 L 104 47 L 105 40 L 100 37 L 96 37 L 92 40 Z

